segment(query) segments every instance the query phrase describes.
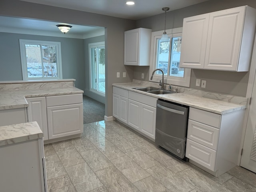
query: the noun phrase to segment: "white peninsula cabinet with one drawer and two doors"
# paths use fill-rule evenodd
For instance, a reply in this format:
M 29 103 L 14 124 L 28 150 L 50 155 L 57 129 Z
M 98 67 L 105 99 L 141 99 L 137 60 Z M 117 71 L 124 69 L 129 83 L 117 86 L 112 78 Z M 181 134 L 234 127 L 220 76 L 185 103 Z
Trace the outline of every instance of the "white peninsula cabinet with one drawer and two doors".
M 26 98 L 28 121 L 38 123 L 45 141 L 80 134 L 83 132 L 82 98 L 82 94 Z

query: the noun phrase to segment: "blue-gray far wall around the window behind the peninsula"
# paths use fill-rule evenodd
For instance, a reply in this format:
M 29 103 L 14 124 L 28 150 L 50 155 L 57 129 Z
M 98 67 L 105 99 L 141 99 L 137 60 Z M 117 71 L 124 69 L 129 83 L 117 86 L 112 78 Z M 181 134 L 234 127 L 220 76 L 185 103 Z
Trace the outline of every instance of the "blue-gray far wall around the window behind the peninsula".
M 63 78 L 76 79 L 76 87 L 84 89 L 84 41 L 76 38 L 0 32 L 0 81 L 22 80 L 19 39 L 60 42 Z

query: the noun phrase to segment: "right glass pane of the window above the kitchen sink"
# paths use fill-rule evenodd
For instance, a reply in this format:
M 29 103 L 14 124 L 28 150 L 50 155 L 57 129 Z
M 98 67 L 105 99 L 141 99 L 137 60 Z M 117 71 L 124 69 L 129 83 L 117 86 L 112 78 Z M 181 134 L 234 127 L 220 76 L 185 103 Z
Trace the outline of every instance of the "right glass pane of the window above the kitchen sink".
M 180 68 L 181 41 L 182 37 L 172 38 L 169 76 L 184 77 L 184 68 Z

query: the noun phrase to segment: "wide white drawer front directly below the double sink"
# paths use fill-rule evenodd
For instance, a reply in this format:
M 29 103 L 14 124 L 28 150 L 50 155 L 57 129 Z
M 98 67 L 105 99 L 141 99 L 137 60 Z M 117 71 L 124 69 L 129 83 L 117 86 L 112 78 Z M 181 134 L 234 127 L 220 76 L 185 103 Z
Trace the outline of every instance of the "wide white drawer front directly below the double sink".
M 129 99 L 132 99 L 134 101 L 137 101 L 137 102 L 140 102 L 140 103 L 143 103 L 143 104 L 146 104 L 146 105 L 156 108 L 157 98 L 155 98 L 155 97 L 151 97 L 151 96 L 147 96 L 144 94 L 129 91 Z

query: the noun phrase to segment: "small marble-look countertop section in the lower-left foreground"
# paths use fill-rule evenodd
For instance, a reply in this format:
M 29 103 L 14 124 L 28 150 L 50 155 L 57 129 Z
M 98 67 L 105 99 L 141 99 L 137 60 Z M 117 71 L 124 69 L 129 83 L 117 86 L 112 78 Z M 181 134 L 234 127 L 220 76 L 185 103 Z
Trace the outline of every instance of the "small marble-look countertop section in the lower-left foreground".
M 37 122 L 0 126 L 0 146 L 43 138 Z

